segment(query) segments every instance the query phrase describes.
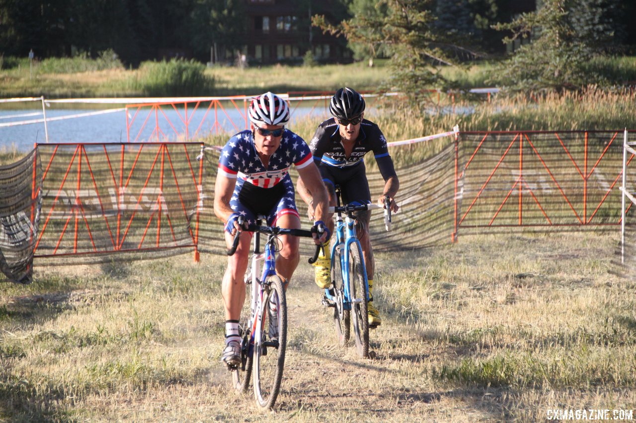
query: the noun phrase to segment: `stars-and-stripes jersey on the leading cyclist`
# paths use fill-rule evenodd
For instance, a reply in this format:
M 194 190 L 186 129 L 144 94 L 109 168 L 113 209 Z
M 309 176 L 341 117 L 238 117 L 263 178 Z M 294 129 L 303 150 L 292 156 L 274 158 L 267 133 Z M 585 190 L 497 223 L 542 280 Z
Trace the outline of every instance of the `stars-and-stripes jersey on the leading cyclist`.
M 284 130 L 278 149 L 265 168 L 256 152 L 252 131 L 240 131 L 225 144 L 219 157 L 219 174 L 239 178 L 261 188 L 271 188 L 289 178 L 292 164 L 302 169 L 312 163 L 312 153 L 305 140 Z

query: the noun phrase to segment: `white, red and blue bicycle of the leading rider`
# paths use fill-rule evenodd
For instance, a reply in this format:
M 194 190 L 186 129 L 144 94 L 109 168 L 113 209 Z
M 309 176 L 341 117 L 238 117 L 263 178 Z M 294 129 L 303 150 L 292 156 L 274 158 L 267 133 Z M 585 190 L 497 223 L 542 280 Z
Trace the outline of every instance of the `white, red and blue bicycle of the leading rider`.
M 268 410 L 274 405 L 280 391 L 287 344 L 285 283 L 276 273 L 276 253 L 279 251 L 277 237 L 293 235 L 311 238 L 312 232 L 261 226 L 263 218 L 259 216 L 256 225 L 247 225 L 247 231 L 254 232 L 251 264 L 245 273 L 245 285 L 251 287 L 251 300 L 245 301 L 239 321 L 241 364 L 230 368 L 230 372 L 234 389 L 239 392 L 247 391 L 252 376 L 256 405 L 261 410 Z M 239 217 L 239 225 L 243 223 L 243 218 Z M 261 233 L 267 235 L 263 252 L 260 251 Z M 235 235 L 228 255 L 236 252 L 239 234 L 237 232 Z M 309 259 L 310 263 L 318 258 L 320 248 L 316 246 L 314 257 Z M 261 265 L 262 272 L 259 271 Z

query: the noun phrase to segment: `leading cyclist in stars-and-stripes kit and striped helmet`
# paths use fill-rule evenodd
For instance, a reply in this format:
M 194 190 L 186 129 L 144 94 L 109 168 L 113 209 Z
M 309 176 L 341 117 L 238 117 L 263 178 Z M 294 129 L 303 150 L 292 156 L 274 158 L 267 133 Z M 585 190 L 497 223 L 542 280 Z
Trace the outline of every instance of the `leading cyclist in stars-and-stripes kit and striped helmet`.
M 328 194 L 305 141 L 285 128 L 289 106 L 279 96 L 267 92 L 252 100 L 249 106 L 250 129 L 241 131 L 227 142 L 219 158 L 214 186 L 214 213 L 225 223 L 228 248 L 237 231 L 237 219 L 256 223 L 257 215 L 266 216 L 266 224 L 300 229 L 300 217 L 294 202 L 294 184 L 289 168 L 294 165 L 300 179 L 316 203 L 315 227 L 324 229 L 314 242 L 329 239 L 324 224 L 328 211 Z M 316 235 L 314 235 L 316 236 Z M 242 231 L 236 253 L 228 257 L 221 292 L 225 306 L 225 344 L 221 361 L 228 366 L 240 363 L 239 319 L 245 301 L 244 275 L 250 252 L 251 232 Z M 300 255 L 298 238 L 280 236 L 282 247 L 276 260 L 276 271 L 289 282 Z

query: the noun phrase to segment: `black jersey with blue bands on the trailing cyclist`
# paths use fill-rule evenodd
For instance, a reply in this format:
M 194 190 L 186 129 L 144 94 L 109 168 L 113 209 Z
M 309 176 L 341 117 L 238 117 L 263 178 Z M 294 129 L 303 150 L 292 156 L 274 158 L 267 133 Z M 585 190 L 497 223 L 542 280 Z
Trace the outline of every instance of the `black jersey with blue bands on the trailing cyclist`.
M 357 166 L 364 163 L 363 159 L 366 153 L 373 151 L 373 156 L 384 180 L 396 175 L 393 160 L 387 147 L 387 138 L 384 137 L 384 133 L 377 124 L 366 119 L 360 123 L 360 133 L 349 157 L 345 154 L 339 126 L 334 117 L 319 124 L 309 148 L 318 166 L 331 166 L 333 168 Z

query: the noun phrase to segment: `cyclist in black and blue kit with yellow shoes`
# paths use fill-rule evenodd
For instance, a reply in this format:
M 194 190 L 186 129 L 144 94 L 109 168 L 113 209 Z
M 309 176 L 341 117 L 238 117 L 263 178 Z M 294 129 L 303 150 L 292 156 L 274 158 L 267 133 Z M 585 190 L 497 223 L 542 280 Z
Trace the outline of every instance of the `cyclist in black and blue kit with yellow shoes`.
M 391 198 L 392 211 L 397 211 L 394 196 L 399 189 L 399 180 L 393 167 L 393 161 L 387 149 L 387 139 L 378 125 L 364 119 L 366 104 L 362 95 L 351 88 L 340 88 L 331 98 L 329 111 L 333 117 L 322 122 L 315 131 L 310 144 L 314 161 L 322 175 L 327 191 L 329 203 L 334 206 L 335 185 L 340 185 L 344 204 L 352 201 L 361 203 L 371 201 L 369 183 L 364 167 L 364 155 L 373 152 L 378 168 L 384 178 L 384 189 L 378 198 L 378 204 L 384 203 L 384 197 Z M 317 201 L 303 185 L 298 182 L 298 192 L 308 204 L 310 216 L 314 216 L 315 201 Z M 373 249 L 368 236 L 371 211 L 360 211 L 357 214 L 357 235 L 363 248 L 364 263 L 369 281 L 371 300 L 368 304 L 369 325 L 378 326 L 382 323 L 380 312 L 373 305 Z M 333 232 L 333 218 L 326 220 L 329 231 Z M 329 274 L 329 248 L 325 248 L 326 256 L 319 257 L 315 265 L 315 281 L 321 288 L 331 285 Z

